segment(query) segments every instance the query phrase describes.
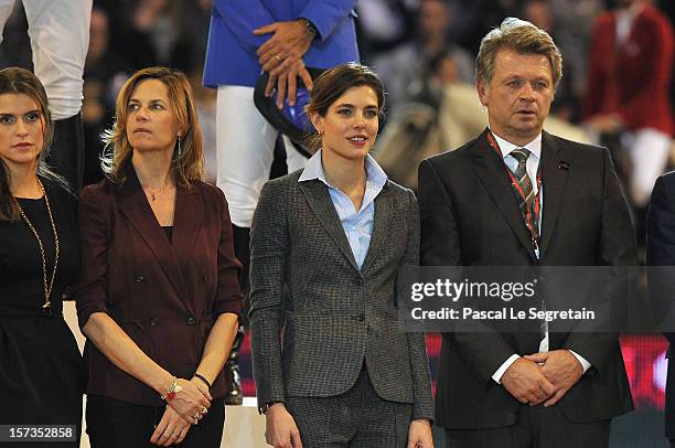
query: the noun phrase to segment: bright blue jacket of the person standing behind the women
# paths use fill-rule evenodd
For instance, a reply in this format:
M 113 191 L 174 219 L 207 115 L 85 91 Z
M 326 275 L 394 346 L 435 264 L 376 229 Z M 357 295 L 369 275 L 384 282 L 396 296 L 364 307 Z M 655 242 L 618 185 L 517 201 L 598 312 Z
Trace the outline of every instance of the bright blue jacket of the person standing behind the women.
M 298 18 L 319 31 L 304 54 L 304 64 L 330 68 L 357 62 L 353 8 L 356 0 L 213 0 L 204 85 L 253 87 L 260 75 L 256 50 L 272 34 L 257 36 L 255 29 Z

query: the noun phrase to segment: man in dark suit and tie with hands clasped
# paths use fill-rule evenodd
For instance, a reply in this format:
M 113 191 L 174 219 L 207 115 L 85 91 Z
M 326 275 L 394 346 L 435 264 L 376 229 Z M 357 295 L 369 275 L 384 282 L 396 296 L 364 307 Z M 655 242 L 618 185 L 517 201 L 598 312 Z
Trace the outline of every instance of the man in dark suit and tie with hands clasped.
M 490 127 L 419 168 L 428 266 L 631 266 L 633 230 L 606 149 L 543 130 L 561 76 L 550 36 L 506 19 L 481 43 Z M 436 416 L 448 447 L 602 447 L 632 409 L 617 334 L 446 333 Z

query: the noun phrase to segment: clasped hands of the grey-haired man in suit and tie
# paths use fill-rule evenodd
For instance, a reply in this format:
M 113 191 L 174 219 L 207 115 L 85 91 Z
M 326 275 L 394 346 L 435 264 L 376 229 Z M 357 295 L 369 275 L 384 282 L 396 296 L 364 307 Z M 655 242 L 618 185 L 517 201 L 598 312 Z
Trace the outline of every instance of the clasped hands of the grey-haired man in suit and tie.
M 517 359 L 502 376 L 502 385 L 523 404 L 553 406 L 582 374 L 583 367 L 574 354 L 554 350 Z

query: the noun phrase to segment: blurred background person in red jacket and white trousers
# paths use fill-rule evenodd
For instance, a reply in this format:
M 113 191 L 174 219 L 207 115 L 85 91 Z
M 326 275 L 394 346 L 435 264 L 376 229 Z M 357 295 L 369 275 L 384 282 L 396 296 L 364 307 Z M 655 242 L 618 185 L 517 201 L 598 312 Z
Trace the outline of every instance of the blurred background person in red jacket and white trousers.
M 672 145 L 673 28 L 646 1 L 615 3 L 596 21 L 583 115 L 598 132 L 621 135 L 632 167 L 629 196 L 644 210 Z

